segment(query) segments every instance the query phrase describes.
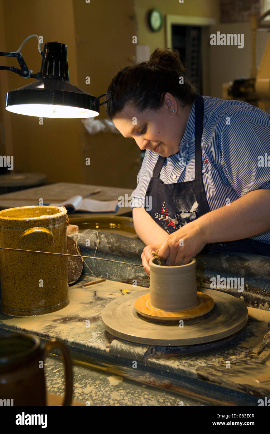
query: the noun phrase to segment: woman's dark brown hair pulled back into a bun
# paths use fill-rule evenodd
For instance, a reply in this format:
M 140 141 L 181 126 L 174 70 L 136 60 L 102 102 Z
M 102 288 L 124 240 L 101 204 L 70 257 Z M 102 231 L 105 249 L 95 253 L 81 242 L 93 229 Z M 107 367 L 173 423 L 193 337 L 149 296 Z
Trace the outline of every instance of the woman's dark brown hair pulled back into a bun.
M 180 77 L 183 77 L 183 84 L 179 83 Z M 126 66 L 112 79 L 107 89 L 111 94 L 106 105 L 107 115 L 113 119 L 126 103 L 133 104 L 138 112 L 157 110 L 166 92 L 186 105 L 195 100 L 196 88 L 185 76 L 179 52 L 156 48 L 147 62 Z

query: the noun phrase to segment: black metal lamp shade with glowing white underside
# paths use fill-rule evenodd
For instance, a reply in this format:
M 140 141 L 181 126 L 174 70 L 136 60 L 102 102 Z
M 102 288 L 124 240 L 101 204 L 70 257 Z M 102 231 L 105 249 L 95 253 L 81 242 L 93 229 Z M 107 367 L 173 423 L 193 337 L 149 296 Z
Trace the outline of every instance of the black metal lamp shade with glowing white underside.
M 10 112 L 44 118 L 89 118 L 99 115 L 99 100 L 68 81 L 65 44 L 44 44 L 40 79 L 7 92 Z

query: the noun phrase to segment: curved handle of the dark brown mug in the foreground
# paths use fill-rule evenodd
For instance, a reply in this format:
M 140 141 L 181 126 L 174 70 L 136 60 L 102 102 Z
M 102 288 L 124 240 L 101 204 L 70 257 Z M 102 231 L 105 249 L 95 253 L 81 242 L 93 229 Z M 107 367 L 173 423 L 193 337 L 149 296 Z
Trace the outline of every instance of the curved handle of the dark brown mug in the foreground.
M 72 378 L 72 358 L 68 347 L 59 339 L 52 338 L 52 340 L 45 342 L 43 346 L 44 358 L 53 348 L 59 348 L 63 358 L 65 366 L 65 396 L 62 405 L 71 405 L 72 392 L 73 392 L 73 378 Z

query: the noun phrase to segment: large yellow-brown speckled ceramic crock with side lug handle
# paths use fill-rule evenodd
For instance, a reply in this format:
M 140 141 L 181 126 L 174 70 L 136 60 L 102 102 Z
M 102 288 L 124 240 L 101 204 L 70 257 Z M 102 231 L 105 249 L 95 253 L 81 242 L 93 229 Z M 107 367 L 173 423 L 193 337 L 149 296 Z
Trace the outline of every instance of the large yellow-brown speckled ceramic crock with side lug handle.
M 67 253 L 65 207 L 0 211 L 0 247 Z M 12 316 L 62 309 L 68 300 L 68 256 L 0 250 L 2 311 Z

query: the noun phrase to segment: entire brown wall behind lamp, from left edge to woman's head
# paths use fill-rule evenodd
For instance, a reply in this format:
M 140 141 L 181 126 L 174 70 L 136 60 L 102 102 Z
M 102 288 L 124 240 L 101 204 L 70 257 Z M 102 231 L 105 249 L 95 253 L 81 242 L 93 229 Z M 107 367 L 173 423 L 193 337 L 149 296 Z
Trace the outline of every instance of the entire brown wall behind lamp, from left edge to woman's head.
M 0 0 L 1 51 L 15 51 L 32 33 L 44 42 L 67 45 L 69 79 L 74 85 L 99 96 L 107 91 L 120 68 L 132 65 L 135 55 L 133 2 L 118 0 L 85 1 Z M 1 11 L 0 9 L 0 11 Z M 12 29 L 12 30 L 11 30 Z M 32 38 L 21 50 L 29 69 L 38 72 L 41 56 L 38 40 Z M 43 48 L 43 47 L 42 47 Z M 1 57 L 2 65 L 15 66 L 13 58 Z M 17 65 L 16 65 L 17 66 Z M 90 76 L 91 85 L 85 84 Z M 48 182 L 70 181 L 111 186 L 136 187 L 140 150 L 120 134 L 89 135 L 80 119 L 44 119 L 16 115 L 4 109 L 6 92 L 33 82 L 0 71 L 0 98 L 6 153 L 14 155 L 16 171 L 42 172 Z M 104 99 L 103 99 L 104 100 Z M 105 106 L 98 118 L 107 118 Z M 85 158 L 91 165 L 85 165 Z

